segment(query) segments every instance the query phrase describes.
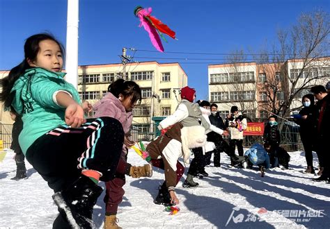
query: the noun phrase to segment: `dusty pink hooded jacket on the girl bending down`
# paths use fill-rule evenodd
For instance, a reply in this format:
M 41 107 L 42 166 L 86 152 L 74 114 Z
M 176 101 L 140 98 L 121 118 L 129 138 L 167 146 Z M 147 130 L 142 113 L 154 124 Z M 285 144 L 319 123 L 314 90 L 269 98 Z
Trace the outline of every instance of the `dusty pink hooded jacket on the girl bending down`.
M 93 105 L 95 110 L 95 118 L 112 117 L 120 121 L 123 125 L 123 130 L 129 132 L 129 127 L 132 125 L 133 114 L 126 112 L 123 104 L 111 92 L 108 92 L 100 101 Z

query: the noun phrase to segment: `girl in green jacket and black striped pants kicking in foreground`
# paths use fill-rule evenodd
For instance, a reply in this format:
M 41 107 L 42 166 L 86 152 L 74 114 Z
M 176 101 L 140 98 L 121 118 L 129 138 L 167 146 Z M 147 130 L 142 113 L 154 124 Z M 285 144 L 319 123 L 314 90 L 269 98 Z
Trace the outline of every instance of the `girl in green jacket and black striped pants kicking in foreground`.
M 94 228 L 98 180 L 111 180 L 124 141 L 111 117 L 84 119 L 77 90 L 62 73 L 63 46 L 47 33 L 29 37 L 24 60 L 0 80 L 0 101 L 22 114 L 19 144 L 49 187 L 60 214 L 54 228 Z

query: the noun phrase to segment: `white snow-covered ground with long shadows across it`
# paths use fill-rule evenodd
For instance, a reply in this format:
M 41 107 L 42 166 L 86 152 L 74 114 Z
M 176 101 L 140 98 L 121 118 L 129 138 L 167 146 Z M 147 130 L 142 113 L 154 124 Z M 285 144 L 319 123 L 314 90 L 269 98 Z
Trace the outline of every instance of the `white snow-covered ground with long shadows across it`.
M 52 228 L 57 214 L 52 190 L 29 163 L 26 163 L 28 179 L 10 180 L 16 169 L 13 155 L 8 152 L 0 162 L 0 228 Z M 195 178 L 200 187 L 183 188 L 182 178 L 176 189 L 180 212 L 175 215 L 168 215 L 164 206 L 152 202 L 164 179 L 161 170 L 155 169 L 152 178 L 127 177 L 124 201 L 117 216 L 119 225 L 123 228 L 329 228 L 330 185 L 313 182 L 311 178 L 316 176 L 302 173 L 306 164 L 304 152 L 290 155 L 292 169 L 268 170 L 261 178 L 257 169 L 228 167 L 229 158 L 221 154 L 221 167 L 207 167 L 209 177 Z M 134 151 L 129 152 L 129 162 L 144 163 Z M 103 196 L 104 193 L 93 215 L 98 228 L 102 228 L 104 219 Z

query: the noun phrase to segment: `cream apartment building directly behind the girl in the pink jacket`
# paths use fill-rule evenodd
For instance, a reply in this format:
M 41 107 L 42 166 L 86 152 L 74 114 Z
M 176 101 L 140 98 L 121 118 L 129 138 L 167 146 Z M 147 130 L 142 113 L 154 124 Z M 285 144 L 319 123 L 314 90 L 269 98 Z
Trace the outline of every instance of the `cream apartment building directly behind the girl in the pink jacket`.
M 9 71 L 0 71 L 0 77 Z M 109 65 L 84 65 L 78 67 L 78 92 L 82 100 L 95 103 L 107 93 L 108 86 L 117 78 L 134 80 L 142 90 L 142 101 L 133 110 L 133 124 L 139 124 L 141 132 L 149 130 L 151 118 L 167 116 L 174 112 L 180 101 L 179 89 L 187 86 L 187 74 L 174 63 L 136 62 Z M 3 112 L 1 104 L 0 120 L 11 124 L 8 112 Z M 93 113 L 90 114 L 93 116 Z

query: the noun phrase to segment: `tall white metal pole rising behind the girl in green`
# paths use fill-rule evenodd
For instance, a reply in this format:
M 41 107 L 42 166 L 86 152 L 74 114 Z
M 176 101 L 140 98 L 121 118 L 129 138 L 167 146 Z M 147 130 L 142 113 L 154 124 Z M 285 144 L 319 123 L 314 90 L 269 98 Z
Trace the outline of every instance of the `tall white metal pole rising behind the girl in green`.
M 68 0 L 68 22 L 66 33 L 65 80 L 78 87 L 78 27 L 79 0 Z

